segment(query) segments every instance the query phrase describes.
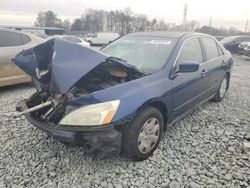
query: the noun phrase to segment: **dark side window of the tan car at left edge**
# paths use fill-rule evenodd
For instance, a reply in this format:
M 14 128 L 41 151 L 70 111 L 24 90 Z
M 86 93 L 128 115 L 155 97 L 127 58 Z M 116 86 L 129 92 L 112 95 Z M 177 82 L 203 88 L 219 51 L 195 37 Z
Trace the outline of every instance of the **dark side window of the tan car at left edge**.
M 21 34 L 9 31 L 0 31 L 0 47 L 22 45 Z

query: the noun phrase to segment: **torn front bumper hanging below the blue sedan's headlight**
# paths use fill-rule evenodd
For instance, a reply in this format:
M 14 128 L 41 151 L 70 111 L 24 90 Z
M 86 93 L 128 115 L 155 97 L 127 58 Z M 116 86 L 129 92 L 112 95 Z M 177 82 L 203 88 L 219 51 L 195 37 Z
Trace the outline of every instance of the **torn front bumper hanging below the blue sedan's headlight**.
M 17 104 L 18 111 L 26 109 L 28 107 L 25 101 Z M 55 139 L 64 143 L 83 146 L 86 153 L 93 154 L 98 158 L 116 157 L 121 153 L 122 134 L 114 128 L 115 125 L 64 129 L 62 126 L 50 122 L 38 121 L 29 113 L 24 116 L 35 127 L 53 136 Z

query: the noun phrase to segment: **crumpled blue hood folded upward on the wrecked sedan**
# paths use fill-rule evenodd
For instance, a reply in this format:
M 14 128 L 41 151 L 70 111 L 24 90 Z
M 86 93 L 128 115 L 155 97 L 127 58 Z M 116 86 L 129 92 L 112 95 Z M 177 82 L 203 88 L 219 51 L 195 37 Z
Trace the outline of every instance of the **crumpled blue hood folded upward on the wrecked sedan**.
M 65 40 L 51 39 L 17 54 L 12 62 L 49 91 L 66 93 L 107 55 Z

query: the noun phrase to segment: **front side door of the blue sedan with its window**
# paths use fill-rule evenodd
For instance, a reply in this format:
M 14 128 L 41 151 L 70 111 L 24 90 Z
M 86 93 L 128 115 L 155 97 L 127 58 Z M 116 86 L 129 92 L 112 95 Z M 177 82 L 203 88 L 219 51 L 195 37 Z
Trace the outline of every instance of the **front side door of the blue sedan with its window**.
M 197 62 L 200 64 L 200 67 L 196 72 L 173 73 L 172 86 L 174 118 L 185 113 L 207 97 L 207 65 L 203 63 L 203 59 L 199 39 L 187 39 L 177 57 L 176 64 L 174 65 L 175 72 L 178 72 L 179 64 L 183 64 L 186 61 Z

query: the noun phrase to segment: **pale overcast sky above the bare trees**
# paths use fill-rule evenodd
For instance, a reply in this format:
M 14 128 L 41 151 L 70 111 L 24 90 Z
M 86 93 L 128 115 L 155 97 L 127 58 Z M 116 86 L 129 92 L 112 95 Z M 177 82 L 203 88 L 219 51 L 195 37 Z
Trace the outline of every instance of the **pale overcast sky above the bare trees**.
M 121 10 L 126 7 L 150 19 L 180 24 L 185 3 L 187 20 L 197 20 L 201 25 L 208 25 L 212 17 L 215 27 L 234 26 L 244 30 L 246 20 L 250 21 L 250 0 L 0 0 L 0 25 L 31 26 L 39 11 L 53 10 L 59 18 L 73 21 L 87 8 Z

